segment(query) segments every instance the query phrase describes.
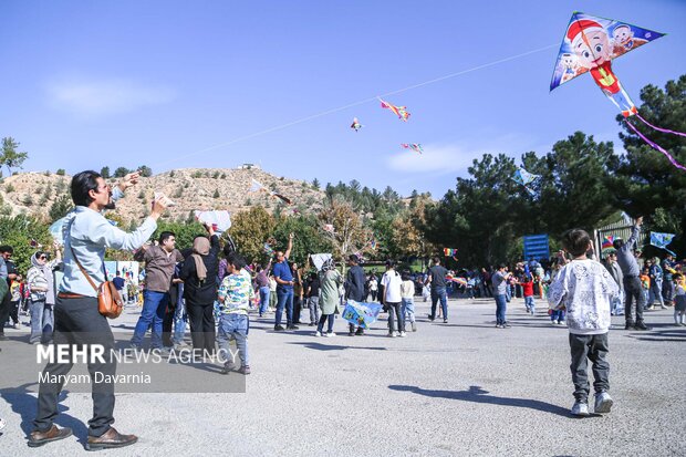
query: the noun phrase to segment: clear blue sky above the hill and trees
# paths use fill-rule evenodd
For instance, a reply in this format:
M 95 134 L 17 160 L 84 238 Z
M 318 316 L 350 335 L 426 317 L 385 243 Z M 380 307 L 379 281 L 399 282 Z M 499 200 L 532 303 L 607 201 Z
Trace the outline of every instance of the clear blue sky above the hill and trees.
M 574 10 L 667 33 L 613 64 L 637 104 L 686 73 L 678 0 L 4 0 L 0 136 L 29 152 L 25 170 L 257 163 L 440 197 L 484 153 L 544 154 L 575 131 L 620 147 L 590 76 L 549 93 Z M 372 101 L 416 84 L 385 97 L 407 123 Z

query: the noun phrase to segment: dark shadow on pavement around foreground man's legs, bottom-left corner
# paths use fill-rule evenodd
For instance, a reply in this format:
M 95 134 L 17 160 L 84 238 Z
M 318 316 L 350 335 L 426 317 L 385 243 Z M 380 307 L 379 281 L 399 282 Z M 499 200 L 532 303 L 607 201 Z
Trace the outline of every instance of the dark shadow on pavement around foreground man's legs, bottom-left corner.
M 37 383 L 29 383 L 17 387 L 17 391 L 12 393 L 2 393 L 2 398 L 10 404 L 12 411 L 21 416 L 21 429 L 28 436 L 33 430 L 33 419 L 35 418 L 35 411 L 38 406 L 37 397 L 31 395 L 29 386 Z M 19 391 L 19 392 L 18 392 Z M 89 428 L 86 425 L 75 418 L 65 414 L 69 411 L 67 406 L 64 406 L 63 402 L 69 396 L 69 391 L 62 391 L 59 397 L 58 411 L 59 415 L 55 417 L 54 423 L 60 427 L 70 427 L 74 435 L 79 438 L 79 442 L 85 446 L 86 438 L 89 436 Z

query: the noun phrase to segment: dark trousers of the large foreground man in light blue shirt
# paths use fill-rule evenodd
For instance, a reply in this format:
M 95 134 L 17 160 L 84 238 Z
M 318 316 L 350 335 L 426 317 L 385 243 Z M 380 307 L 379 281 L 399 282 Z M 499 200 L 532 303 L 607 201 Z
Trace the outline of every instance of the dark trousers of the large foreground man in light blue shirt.
M 102 373 L 104 380 L 112 380 L 116 373 L 116 359 L 112 356 L 114 336 L 107 319 L 97 312 L 97 299 L 60 299 L 54 307 L 55 330 L 53 344 L 102 345 L 105 350 L 105 363 L 89 363 L 89 373 L 93 384 L 93 418 L 89 420 L 89 435 L 101 436 L 114 423 L 114 383 L 111 381 L 95 382 L 95 373 Z M 71 351 L 70 351 L 71 352 Z M 70 357 L 71 359 L 71 357 Z M 89 357 L 90 360 L 91 357 Z M 43 378 L 66 375 L 73 363 L 48 363 L 43 370 Z M 58 377 L 64 378 L 64 377 Z M 38 394 L 38 414 L 33 425 L 35 429 L 46 432 L 58 416 L 58 396 L 63 382 L 41 383 Z

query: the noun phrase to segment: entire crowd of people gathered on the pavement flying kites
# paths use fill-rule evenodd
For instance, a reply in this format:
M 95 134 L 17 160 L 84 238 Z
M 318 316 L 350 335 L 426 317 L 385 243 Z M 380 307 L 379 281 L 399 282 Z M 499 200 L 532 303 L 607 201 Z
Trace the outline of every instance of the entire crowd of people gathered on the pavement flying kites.
M 586 356 L 594 364 L 596 375 L 595 411 L 609 412 L 612 399 L 607 394 L 606 333 L 611 314 L 624 314 L 626 329 L 649 330 L 644 322 L 644 309 L 653 303 L 662 308 L 675 307 L 675 323 L 685 325 L 686 284 L 682 263 L 673 256 L 665 259 L 646 259 L 640 264 L 636 245 L 642 218 L 638 218 L 628 240 L 615 239 L 614 250 L 602 264 L 595 258 L 593 243 L 583 230 L 568 232 L 563 239 L 564 251 L 552 259 L 518 262 L 513 268 L 449 271 L 441 258 L 432 259 L 426 271 L 413 272 L 395 261 L 385 262 L 385 272 L 378 277 L 364 270 L 361 259 L 349 256 L 346 269 L 337 268 L 326 258 L 312 268 L 309 259 L 304 266 L 291 262 L 293 233 L 288 246 L 277 251 L 266 264 L 250 263 L 230 241 L 221 246 L 212 227 L 198 235 L 193 246 L 176 246 L 170 231 L 159 233 L 154 242 L 150 236 L 157 219 L 165 210 L 165 198 L 156 199 L 150 215 L 132 232 L 125 232 L 102 215 L 113 209 L 114 201 L 135 185 L 137 174 L 124 177 L 111 188 L 95 172 L 74 176 L 71 184 L 75 209 L 64 224 L 64 246 L 58 243 L 50 251 L 38 250 L 31 257 L 25 279 L 11 261 L 13 250 L 0 247 L 0 294 L 2 305 L 0 322 L 11 319 L 19 324 L 19 312 L 31 316 L 30 342 L 33 344 L 101 344 L 114 347 L 110 323 L 98 312 L 96 283 L 106 278 L 105 249 L 135 251 L 135 260 L 145 267 L 145 284 L 141 315 L 131 339 L 131 347 L 144 350 L 144 340 L 150 330 L 150 350 L 160 353 L 190 349 L 211 357 L 228 353 L 230 341 L 237 346 L 237 360 L 226 357 L 222 373 L 237 371 L 250 374 L 248 333 L 250 315 L 271 319 L 274 332 L 299 330 L 304 319 L 315 326 L 313 335 L 333 337 L 336 315 L 346 302 L 377 301 L 387 312 L 387 335 L 405 337 L 417 331 L 415 298 L 430 299 L 429 321 L 448 322 L 448 297 L 461 293 L 468 299 L 492 298 L 496 303 L 496 328 L 509 329 L 507 307 L 512 297 L 524 299 L 526 311 L 536 314 L 537 299 L 548 301 L 552 324 L 565 324 L 570 330 L 572 378 L 576 403 L 572 414 L 588 414 L 589 385 Z M 63 249 L 63 251 L 62 251 Z M 604 268 L 602 267 L 604 266 Z M 61 271 L 59 283 L 53 274 Z M 344 271 L 344 273 L 342 273 Z M 112 279 L 124 295 L 128 281 L 117 272 Z M 583 291 L 586 290 L 585 295 Z M 585 297 L 586 299 L 583 299 Z M 128 300 L 127 300 L 128 301 Z M 135 302 L 135 300 L 134 300 Z M 606 305 L 605 305 L 606 304 Z M 304 311 L 304 312 L 303 312 Z M 606 311 L 606 312 L 605 312 Z M 283 320 L 285 314 L 285 321 Z M 309 315 L 308 315 L 309 314 Z M 634 319 L 635 316 L 635 319 Z M 190 345 L 185 341 L 186 326 L 190 328 Z M 324 328 L 325 325 L 325 328 Z M 364 335 L 365 326 L 349 323 L 349 335 Z M 0 333 L 0 339 L 6 339 Z M 219 349 L 219 351 L 217 351 Z M 591 351 L 591 352 L 589 352 Z M 49 363 L 44 373 L 66 374 L 71 364 Z M 113 360 L 89 364 L 95 372 L 114 374 Z M 596 370 L 597 368 L 597 370 Z M 69 428 L 53 424 L 58 414 L 60 382 L 41 382 L 34 432 L 29 446 L 62 439 L 71 434 Z M 114 422 L 114 384 L 93 387 L 94 417 L 89 423 L 86 448 L 121 447 L 135 443 L 134 435 L 119 434 Z

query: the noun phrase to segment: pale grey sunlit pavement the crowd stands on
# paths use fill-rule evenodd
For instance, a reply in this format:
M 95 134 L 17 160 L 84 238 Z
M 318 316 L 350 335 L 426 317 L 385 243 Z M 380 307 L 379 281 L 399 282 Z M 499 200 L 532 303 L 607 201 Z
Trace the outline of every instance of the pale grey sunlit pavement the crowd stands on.
M 417 315 L 427 307 L 418 303 Z M 141 436 L 121 456 L 684 456 L 686 328 L 672 310 L 647 313 L 651 332 L 611 331 L 611 414 L 578 419 L 568 331 L 543 311 L 510 305 L 512 329 L 495 329 L 491 300 L 450 301 L 450 323 L 419 319 L 417 333 L 315 339 L 308 326 L 251 326 L 245 394 L 121 394 L 115 426 Z M 127 312 L 117 324 L 133 325 Z M 620 326 L 622 330 L 620 330 Z M 7 330 L 9 335 L 17 334 Z M 2 343 L 0 343 L 2 344 Z M 0 366 L 13 364 L 0 353 Z M 208 373 L 207 375 L 215 375 Z M 92 404 L 70 393 L 58 423 L 75 437 L 29 449 L 33 394 L 3 395 L 2 455 L 83 451 Z

